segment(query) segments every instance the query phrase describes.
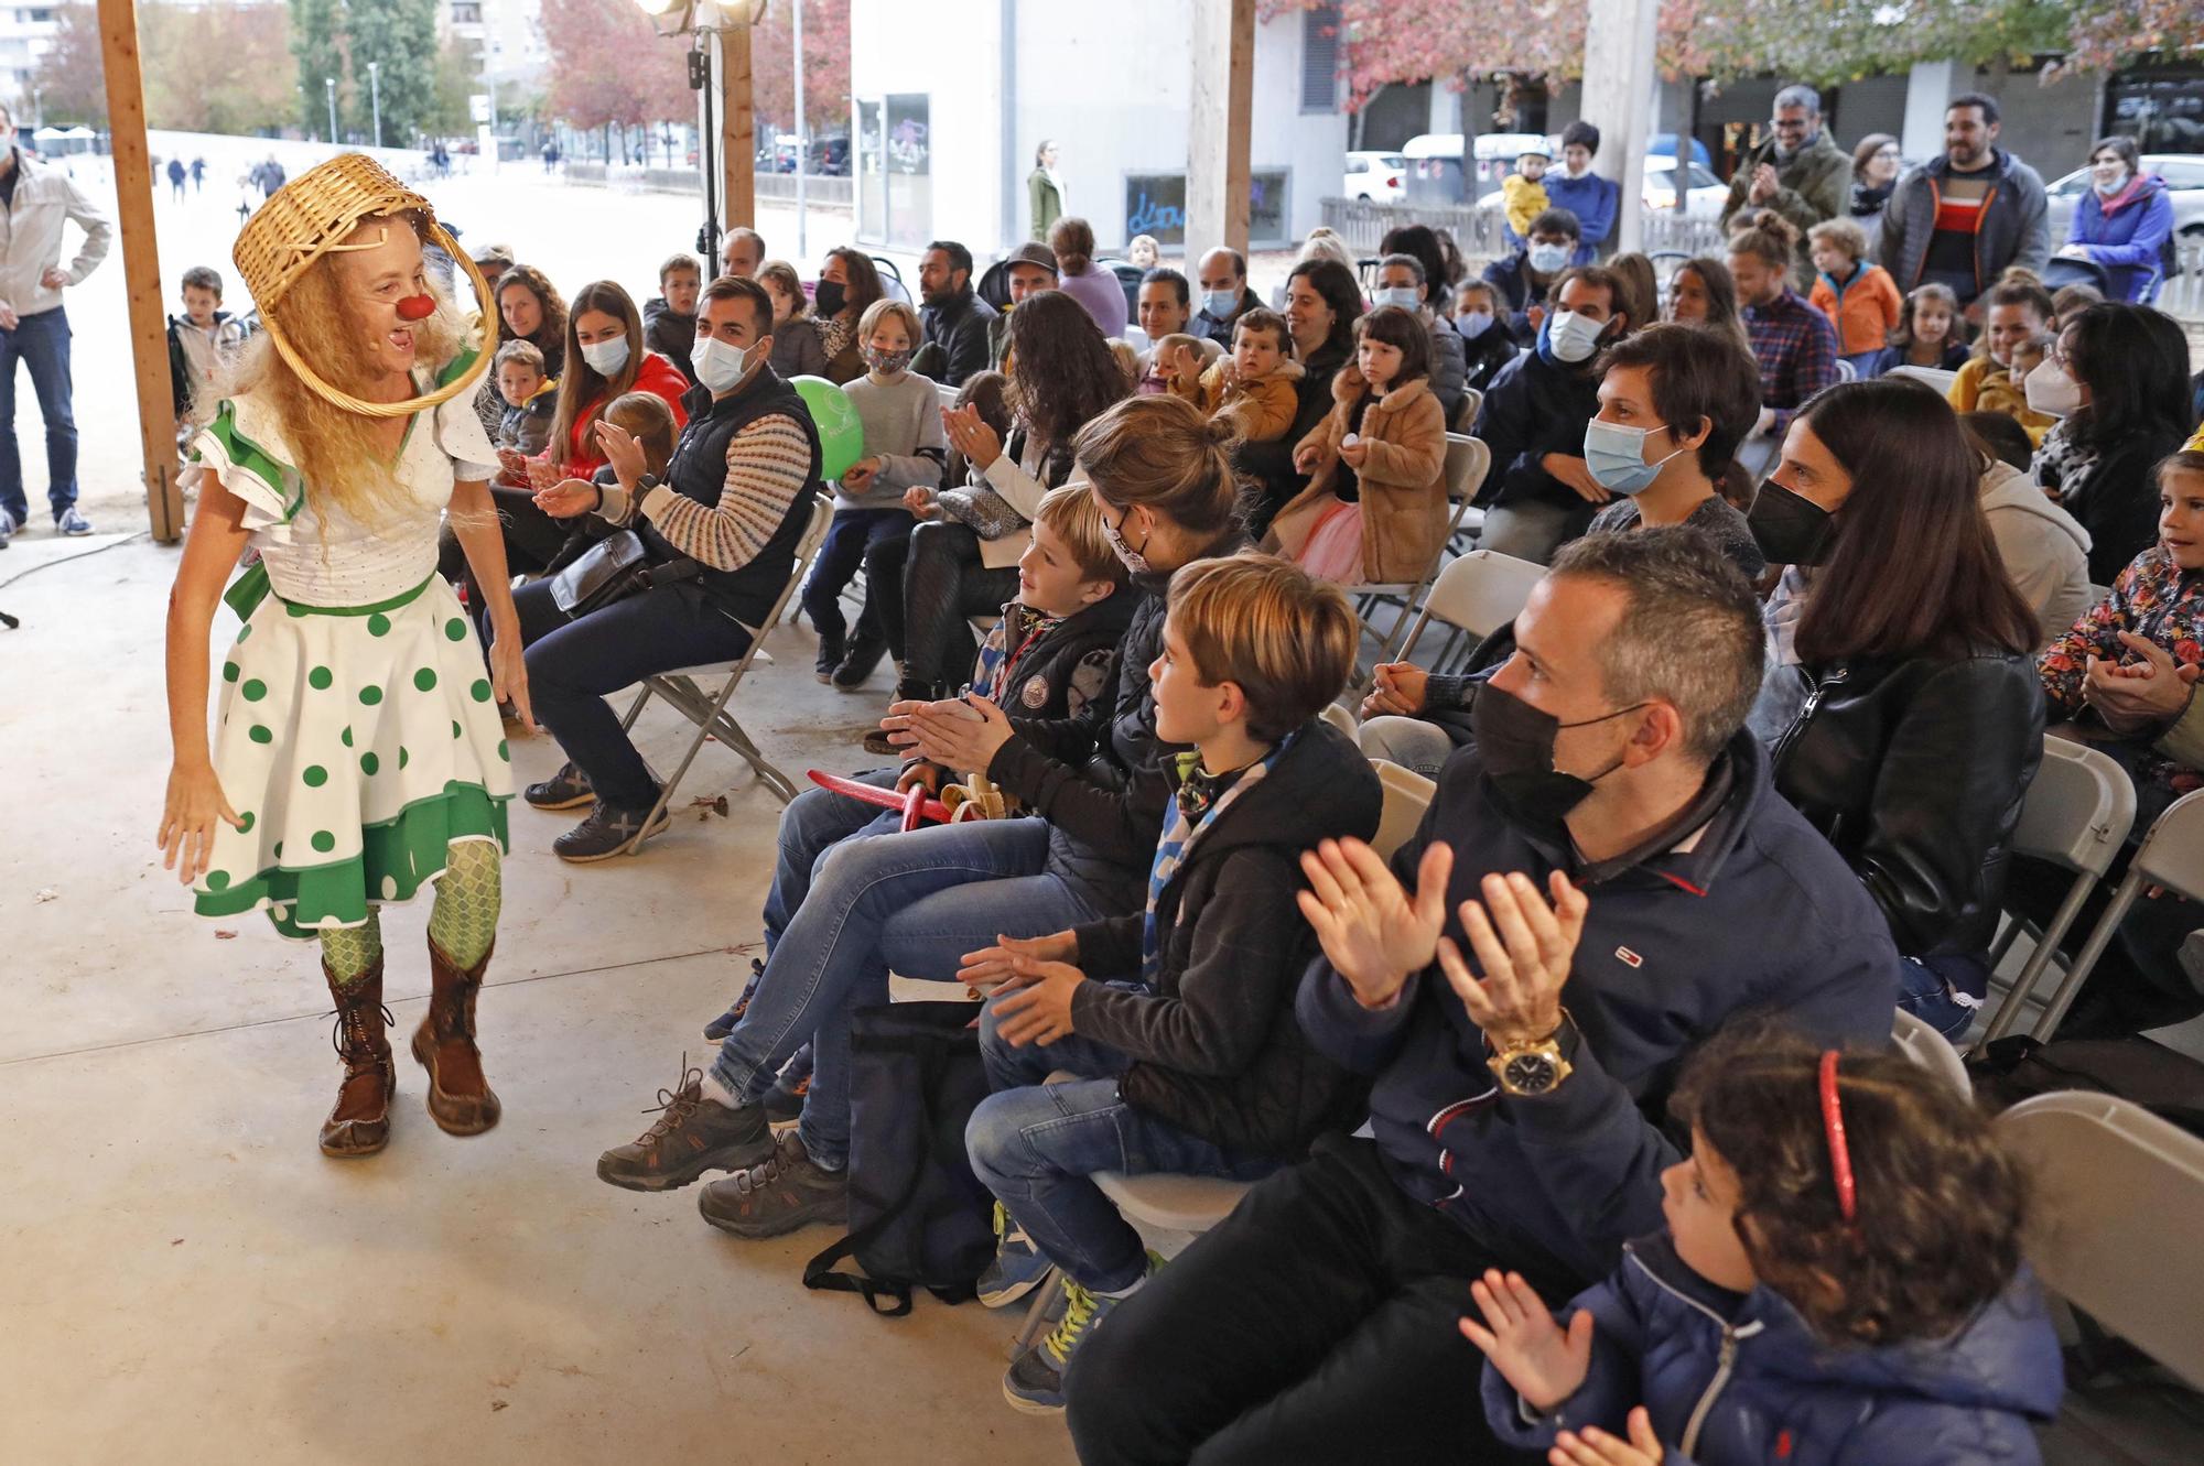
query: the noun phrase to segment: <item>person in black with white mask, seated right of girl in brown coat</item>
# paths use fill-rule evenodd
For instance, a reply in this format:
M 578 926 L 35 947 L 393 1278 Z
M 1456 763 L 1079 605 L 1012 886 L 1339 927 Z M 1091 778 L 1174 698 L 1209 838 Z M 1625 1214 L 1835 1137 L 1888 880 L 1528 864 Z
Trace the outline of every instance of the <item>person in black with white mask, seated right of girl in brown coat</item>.
M 1600 348 L 1638 326 L 1616 308 L 1620 291 L 1600 266 L 1567 271 L 1536 350 L 1501 368 L 1485 390 L 1477 436 L 1492 449 L 1492 471 L 1477 502 L 1488 504 L 1479 537 L 1488 550 L 1543 566 L 1613 497 L 1582 453 L 1585 423 L 1600 409 Z

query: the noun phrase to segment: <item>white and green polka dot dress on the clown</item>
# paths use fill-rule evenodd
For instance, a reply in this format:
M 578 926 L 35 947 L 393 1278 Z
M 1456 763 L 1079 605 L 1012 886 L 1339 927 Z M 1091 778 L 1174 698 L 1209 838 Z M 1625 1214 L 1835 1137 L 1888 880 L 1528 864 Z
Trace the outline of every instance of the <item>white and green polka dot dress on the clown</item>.
M 399 451 L 412 502 L 372 528 L 315 513 L 276 414 L 253 398 L 225 403 L 192 460 L 187 482 L 220 478 L 245 502 L 260 555 L 227 597 L 245 625 L 223 660 L 214 737 L 245 828 L 216 828 L 198 913 L 267 911 L 282 936 L 311 940 L 410 900 L 452 841 L 503 850 L 503 724 L 474 625 L 436 575 L 452 484 L 496 473 L 472 403 L 414 418 Z

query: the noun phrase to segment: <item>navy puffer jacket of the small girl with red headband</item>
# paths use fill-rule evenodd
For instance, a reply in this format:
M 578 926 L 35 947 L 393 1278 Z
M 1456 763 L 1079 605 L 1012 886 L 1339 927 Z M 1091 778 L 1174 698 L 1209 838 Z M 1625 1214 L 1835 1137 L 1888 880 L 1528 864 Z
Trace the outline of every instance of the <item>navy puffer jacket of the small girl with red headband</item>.
M 2032 1420 L 2059 1413 L 2065 1367 L 2023 1268 L 1953 1338 L 1838 1347 L 1768 1288 L 1739 1297 L 1675 1255 L 1666 1233 L 1560 1310 L 1593 1316 L 1591 1371 L 1552 1413 L 1485 1365 L 1485 1420 L 1501 1442 L 1545 1451 L 1560 1431 L 1627 1440 L 1638 1404 L 1664 1466 L 2036 1466 Z

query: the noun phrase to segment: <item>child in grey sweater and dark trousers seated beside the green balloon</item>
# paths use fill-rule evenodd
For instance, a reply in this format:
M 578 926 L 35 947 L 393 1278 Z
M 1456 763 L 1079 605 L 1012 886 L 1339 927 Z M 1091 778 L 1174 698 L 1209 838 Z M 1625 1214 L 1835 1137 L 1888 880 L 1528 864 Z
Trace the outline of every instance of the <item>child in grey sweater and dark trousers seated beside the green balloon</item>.
M 899 299 L 875 299 L 857 326 L 864 346 L 866 374 L 842 387 L 864 425 L 864 458 L 842 471 L 833 486 L 833 524 L 804 579 L 802 608 L 820 634 L 813 671 L 820 682 L 844 691 L 864 687 L 879 658 L 888 654 L 888 634 L 879 625 L 873 594 L 879 586 L 871 575 L 875 546 L 910 539 L 917 524 L 904 495 L 910 489 L 932 489 L 941 482 L 941 460 L 948 440 L 941 431 L 941 394 L 934 383 L 910 370 L 919 341 L 919 313 Z M 864 612 L 857 636 L 849 641 L 842 616 L 842 590 L 866 568 Z

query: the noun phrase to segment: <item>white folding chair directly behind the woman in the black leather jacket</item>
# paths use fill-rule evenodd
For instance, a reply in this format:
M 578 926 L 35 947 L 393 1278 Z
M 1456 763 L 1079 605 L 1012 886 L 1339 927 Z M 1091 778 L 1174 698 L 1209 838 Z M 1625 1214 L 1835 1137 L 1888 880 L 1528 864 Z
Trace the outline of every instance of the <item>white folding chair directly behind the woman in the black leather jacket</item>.
M 2012 854 L 2070 869 L 2074 885 L 2067 887 L 2050 922 L 2041 927 L 2019 911 L 2008 913 L 2006 931 L 1990 949 L 1990 971 L 1997 971 L 2006 960 L 2021 931 L 2034 938 L 2036 949 L 1990 1017 L 1990 1026 L 1981 1035 L 1984 1043 L 2003 1039 L 2021 1019 L 2021 1006 L 2043 980 L 2043 971 L 2059 960 L 2059 944 L 2065 942 L 2083 902 L 2089 900 L 2089 891 L 2111 869 L 2133 823 L 2136 786 L 2129 784 L 2118 764 L 2070 737 L 2043 740 L 2043 762 L 2036 766 L 2036 781 L 2028 786 L 2028 797 L 2021 801 Z M 2089 969 L 2076 962 L 2074 973 L 2078 984 L 2089 975 Z

